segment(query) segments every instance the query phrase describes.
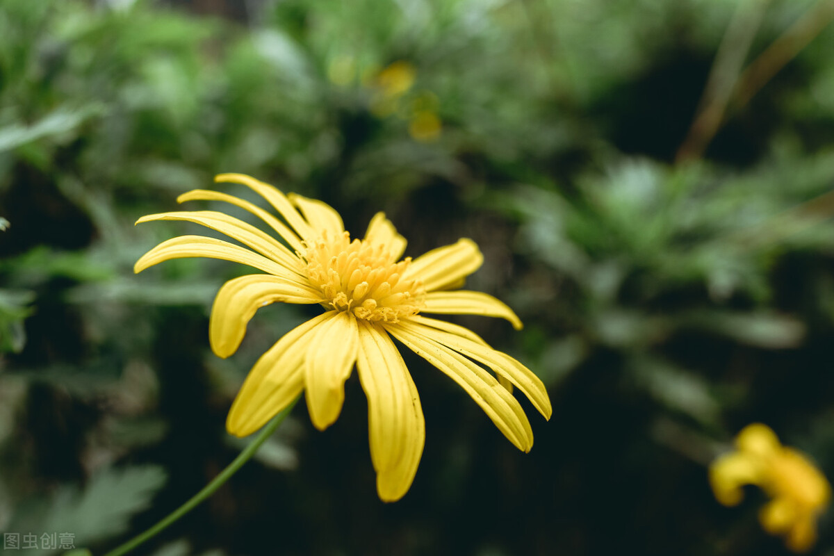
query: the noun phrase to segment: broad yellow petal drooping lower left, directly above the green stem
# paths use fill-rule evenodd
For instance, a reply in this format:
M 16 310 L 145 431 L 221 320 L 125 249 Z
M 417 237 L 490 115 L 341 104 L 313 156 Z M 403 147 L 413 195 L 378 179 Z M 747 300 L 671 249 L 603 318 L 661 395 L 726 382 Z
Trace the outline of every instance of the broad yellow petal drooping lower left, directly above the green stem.
M 304 356 L 316 327 L 329 318 L 322 313 L 299 324 L 264 353 L 249 371 L 234 398 L 226 429 L 249 436 L 286 408 L 304 389 Z

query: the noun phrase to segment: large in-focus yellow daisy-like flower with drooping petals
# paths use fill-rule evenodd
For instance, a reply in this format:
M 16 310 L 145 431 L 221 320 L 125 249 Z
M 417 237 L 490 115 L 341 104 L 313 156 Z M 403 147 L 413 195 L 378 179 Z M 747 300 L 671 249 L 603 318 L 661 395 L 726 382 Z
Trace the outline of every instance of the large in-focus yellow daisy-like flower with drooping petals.
M 530 423 L 510 394 L 510 384 L 550 418 L 550 398 L 539 378 L 469 329 L 421 314 L 479 314 L 505 318 L 521 328 L 519 318 L 498 299 L 450 291 L 460 288 L 483 262 L 474 242 L 460 239 L 414 260 L 399 260 L 406 242 L 384 213 L 371 219 L 364 239 L 351 241 L 339 213 L 321 201 L 284 195 L 242 174 L 221 174 L 215 181 L 248 186 L 284 222 L 226 193 L 198 189 L 183 193 L 178 201 L 234 204 L 261 218 L 286 244 L 215 211 L 151 214 L 137 223 L 198 223 L 247 248 L 215 238 L 181 236 L 145 253 L 134 270 L 138 273 L 171 258 L 208 257 L 264 272 L 229 280 L 214 299 L 209 340 L 222 358 L 238 349 L 249 319 L 269 303 L 319 303 L 324 308 L 324 313 L 285 334 L 255 363 L 229 411 L 229 433 L 254 433 L 302 391 L 316 428 L 328 427 L 339 417 L 344 381 L 355 364 L 368 398 L 370 453 L 379 498 L 401 498 L 420 463 L 425 423 L 420 397 L 393 337 L 460 384 L 510 442 L 530 450 Z M 475 362 L 492 369 L 500 380 Z

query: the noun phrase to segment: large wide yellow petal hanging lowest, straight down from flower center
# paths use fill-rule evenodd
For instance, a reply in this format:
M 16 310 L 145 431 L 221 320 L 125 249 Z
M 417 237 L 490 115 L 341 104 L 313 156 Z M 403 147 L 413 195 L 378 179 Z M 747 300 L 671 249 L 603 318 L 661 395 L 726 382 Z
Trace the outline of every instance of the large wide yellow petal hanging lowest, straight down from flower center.
M 368 396 L 370 455 L 384 502 L 402 498 L 425 444 L 420 397 L 394 342 L 378 325 L 359 321 L 359 382 Z

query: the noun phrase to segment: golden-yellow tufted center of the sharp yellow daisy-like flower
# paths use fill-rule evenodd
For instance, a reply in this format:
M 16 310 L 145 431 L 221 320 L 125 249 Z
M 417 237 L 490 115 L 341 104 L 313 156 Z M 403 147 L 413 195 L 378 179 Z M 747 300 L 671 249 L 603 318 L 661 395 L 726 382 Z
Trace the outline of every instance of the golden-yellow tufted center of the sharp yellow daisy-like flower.
M 324 308 L 353 311 L 356 318 L 396 323 L 399 318 L 420 313 L 425 288 L 419 279 L 403 279 L 411 258 L 394 263 L 389 246 L 350 241 L 344 232 L 305 243 L 307 276 L 324 294 Z

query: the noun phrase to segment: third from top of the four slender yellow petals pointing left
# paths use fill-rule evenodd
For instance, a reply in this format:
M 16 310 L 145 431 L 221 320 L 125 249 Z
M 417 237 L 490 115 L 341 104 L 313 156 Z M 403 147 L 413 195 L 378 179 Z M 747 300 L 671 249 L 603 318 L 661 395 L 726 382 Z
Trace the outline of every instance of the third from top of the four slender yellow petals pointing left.
M 295 253 L 292 253 L 288 248 L 279 243 L 277 239 L 255 228 L 252 224 L 245 223 L 243 220 L 239 220 L 228 214 L 213 210 L 148 214 L 148 216 L 139 218 L 136 223 L 151 222 L 153 220 L 183 220 L 185 222 L 202 224 L 206 228 L 225 233 L 229 238 L 235 239 L 249 248 L 253 248 L 258 253 L 264 255 L 264 257 L 273 259 L 276 263 L 284 265 L 284 267 L 289 268 L 295 273 L 301 274 L 303 272 L 300 259 Z

